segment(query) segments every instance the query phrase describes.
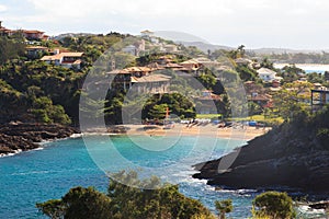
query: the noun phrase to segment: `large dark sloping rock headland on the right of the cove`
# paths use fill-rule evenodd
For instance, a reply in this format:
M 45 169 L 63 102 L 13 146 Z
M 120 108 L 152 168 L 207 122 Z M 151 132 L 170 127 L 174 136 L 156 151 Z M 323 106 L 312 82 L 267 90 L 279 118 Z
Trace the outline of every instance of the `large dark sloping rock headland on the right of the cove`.
M 282 125 L 240 148 L 226 170 L 220 159 L 200 163 L 193 177 L 229 188 L 288 188 L 329 193 L 328 140 L 318 139 L 307 127 Z

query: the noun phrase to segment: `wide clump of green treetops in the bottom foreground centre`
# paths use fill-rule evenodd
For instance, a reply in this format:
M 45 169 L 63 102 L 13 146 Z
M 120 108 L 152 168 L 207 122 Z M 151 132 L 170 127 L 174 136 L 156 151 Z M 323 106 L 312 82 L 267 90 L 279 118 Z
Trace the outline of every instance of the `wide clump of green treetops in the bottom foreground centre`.
M 76 187 L 61 199 L 36 207 L 50 218 L 214 219 L 198 200 L 182 195 L 177 185 L 162 185 L 158 177 L 141 181 L 136 172 L 122 171 L 112 178 L 116 181 L 110 181 L 107 195 L 91 187 Z

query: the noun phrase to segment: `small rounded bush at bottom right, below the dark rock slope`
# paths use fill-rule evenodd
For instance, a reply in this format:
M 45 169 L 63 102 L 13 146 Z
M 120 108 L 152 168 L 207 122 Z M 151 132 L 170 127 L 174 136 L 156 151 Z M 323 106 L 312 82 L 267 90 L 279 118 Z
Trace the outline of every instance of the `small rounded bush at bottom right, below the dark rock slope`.
M 252 201 L 252 215 L 257 218 L 290 219 L 295 218 L 293 199 L 286 193 L 265 192 Z

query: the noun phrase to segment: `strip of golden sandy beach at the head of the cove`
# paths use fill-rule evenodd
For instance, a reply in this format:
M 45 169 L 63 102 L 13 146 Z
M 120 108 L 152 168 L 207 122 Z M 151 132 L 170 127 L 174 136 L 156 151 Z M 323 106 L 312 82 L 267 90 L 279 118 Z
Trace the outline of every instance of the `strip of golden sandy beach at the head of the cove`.
M 162 126 L 145 126 L 145 125 L 125 125 L 128 129 L 127 135 L 145 135 L 145 136 L 208 136 L 215 138 L 232 138 L 241 140 L 251 140 L 258 136 L 264 135 L 270 127 L 249 127 L 243 128 L 218 128 L 217 125 L 195 125 L 188 127 L 185 124 L 174 124 L 170 129 L 163 129 Z

